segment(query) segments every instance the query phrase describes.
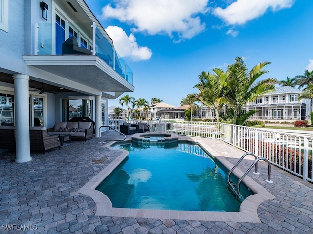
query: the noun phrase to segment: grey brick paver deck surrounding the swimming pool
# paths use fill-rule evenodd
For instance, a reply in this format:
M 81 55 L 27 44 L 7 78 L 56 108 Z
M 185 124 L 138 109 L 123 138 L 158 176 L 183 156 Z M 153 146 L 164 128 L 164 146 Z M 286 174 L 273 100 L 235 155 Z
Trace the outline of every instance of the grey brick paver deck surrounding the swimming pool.
M 106 137 L 116 136 L 102 140 Z M 219 140 L 197 140 L 232 164 L 244 154 Z M 312 184 L 276 167 L 273 183 L 267 183 L 264 163 L 260 175 L 249 173 L 275 197 L 259 205 L 261 222 L 96 216 L 95 202 L 78 190 L 120 155 L 105 145 L 97 138 L 75 141 L 44 155 L 32 153 L 27 163 L 15 163 L 14 153 L 1 152 L 0 234 L 313 234 Z M 250 163 L 244 160 L 239 168 L 245 171 Z

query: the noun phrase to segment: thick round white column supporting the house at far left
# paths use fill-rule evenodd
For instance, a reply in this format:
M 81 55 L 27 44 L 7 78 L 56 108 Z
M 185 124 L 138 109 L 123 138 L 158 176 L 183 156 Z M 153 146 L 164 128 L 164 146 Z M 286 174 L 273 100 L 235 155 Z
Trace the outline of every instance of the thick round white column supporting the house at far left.
M 15 162 L 31 161 L 29 145 L 29 76 L 14 74 Z

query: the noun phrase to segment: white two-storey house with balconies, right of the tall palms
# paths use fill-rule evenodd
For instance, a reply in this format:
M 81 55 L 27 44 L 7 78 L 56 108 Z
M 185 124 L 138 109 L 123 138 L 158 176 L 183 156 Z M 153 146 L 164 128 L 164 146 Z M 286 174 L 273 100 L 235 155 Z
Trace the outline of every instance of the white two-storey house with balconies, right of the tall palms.
M 257 110 L 258 113 L 249 119 L 264 121 L 295 121 L 310 119 L 311 100 L 301 99 L 301 90 L 291 86 L 279 86 L 275 91 L 258 97 L 254 102 L 249 102 L 243 110 Z M 225 113 L 225 107 L 221 109 Z M 214 110 L 207 107 L 198 108 L 195 113 L 198 118 L 215 118 Z

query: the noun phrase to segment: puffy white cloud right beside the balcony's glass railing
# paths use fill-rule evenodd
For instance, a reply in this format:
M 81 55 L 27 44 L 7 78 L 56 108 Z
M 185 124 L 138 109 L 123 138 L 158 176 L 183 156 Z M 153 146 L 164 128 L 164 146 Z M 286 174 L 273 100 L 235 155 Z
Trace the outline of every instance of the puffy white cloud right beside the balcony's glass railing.
M 113 40 L 114 47 L 121 57 L 128 57 L 134 61 L 151 58 L 151 49 L 146 46 L 139 46 L 132 33 L 127 36 L 126 32 L 117 26 L 108 26 L 105 30 Z

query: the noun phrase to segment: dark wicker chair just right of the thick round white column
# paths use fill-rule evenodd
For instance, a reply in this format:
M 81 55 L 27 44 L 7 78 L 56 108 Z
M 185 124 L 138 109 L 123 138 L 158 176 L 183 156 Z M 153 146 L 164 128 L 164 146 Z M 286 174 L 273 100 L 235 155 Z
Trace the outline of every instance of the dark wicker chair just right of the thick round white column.
M 30 151 L 42 151 L 60 147 L 59 135 L 48 135 L 45 127 L 30 127 Z

